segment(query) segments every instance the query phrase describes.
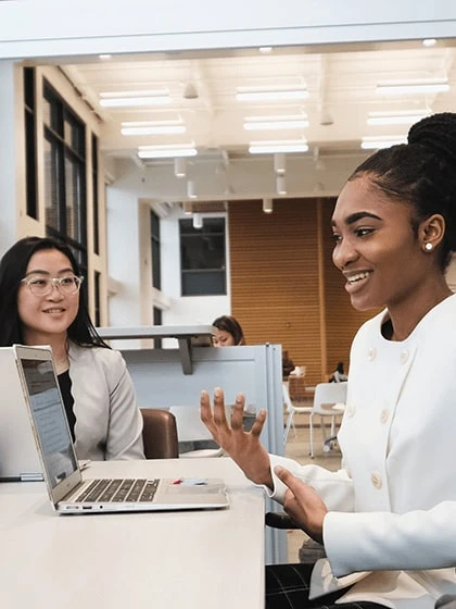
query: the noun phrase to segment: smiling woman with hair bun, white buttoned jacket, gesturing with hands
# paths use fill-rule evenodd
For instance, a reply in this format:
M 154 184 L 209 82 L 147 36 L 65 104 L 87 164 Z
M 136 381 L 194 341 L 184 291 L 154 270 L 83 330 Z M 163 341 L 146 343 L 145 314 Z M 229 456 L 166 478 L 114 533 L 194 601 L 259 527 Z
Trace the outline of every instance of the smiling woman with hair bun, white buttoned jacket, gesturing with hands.
M 456 594 L 456 114 L 414 125 L 408 144 L 359 165 L 337 201 L 333 262 L 358 310 L 339 443 L 342 469 L 269 456 L 266 412 L 246 434 L 239 395 L 202 393 L 216 442 L 314 539 L 327 559 L 266 570 L 267 609 L 433 609 Z

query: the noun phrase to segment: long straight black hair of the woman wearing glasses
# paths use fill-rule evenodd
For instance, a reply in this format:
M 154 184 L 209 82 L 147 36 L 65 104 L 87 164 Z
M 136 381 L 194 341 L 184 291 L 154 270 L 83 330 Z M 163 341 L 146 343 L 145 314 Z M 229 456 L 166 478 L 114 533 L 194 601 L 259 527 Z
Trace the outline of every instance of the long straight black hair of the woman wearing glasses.
M 75 275 L 80 275 L 79 265 L 69 247 L 52 237 L 25 237 L 16 241 L 0 261 L 0 346 L 9 347 L 24 343 L 22 322 L 17 311 L 17 293 L 33 254 L 40 250 L 56 249 L 69 260 Z M 69 340 L 84 347 L 109 346 L 98 335 L 86 304 L 85 284 L 80 286 L 79 307 L 67 330 Z

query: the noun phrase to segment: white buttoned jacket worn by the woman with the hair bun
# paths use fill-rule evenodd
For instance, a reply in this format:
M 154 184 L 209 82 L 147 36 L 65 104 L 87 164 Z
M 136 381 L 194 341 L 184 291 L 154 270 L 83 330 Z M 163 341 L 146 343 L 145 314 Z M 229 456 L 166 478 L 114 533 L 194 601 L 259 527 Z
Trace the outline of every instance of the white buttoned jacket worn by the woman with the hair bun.
M 325 500 L 328 560 L 313 571 L 313 597 L 357 582 L 341 599 L 433 609 L 456 594 L 456 295 L 401 343 L 385 340 L 380 313 L 351 351 L 338 436 L 342 470 L 271 457 Z M 275 477 L 271 495 L 283 500 Z

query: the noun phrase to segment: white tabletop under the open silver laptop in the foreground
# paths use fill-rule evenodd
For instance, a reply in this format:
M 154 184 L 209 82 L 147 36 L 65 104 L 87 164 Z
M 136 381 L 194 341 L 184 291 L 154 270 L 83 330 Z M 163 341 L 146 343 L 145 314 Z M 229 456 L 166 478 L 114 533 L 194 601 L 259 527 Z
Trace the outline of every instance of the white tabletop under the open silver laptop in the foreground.
M 92 476 L 223 477 L 227 510 L 58 515 L 43 483 L 0 484 L 0 606 L 264 606 L 264 499 L 223 459 L 92 463 Z

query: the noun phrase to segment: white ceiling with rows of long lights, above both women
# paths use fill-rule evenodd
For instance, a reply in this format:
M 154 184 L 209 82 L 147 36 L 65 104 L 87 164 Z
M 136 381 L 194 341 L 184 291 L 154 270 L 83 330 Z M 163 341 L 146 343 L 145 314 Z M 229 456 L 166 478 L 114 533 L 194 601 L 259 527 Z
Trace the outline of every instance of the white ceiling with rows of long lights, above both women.
M 305 139 L 308 151 L 287 156 L 288 196 L 335 196 L 346 176 L 369 152 L 364 136 L 405 136 L 408 125 L 367 125 L 369 112 L 456 110 L 456 39 L 406 42 L 185 51 L 36 60 L 56 64 L 100 116 L 105 157 L 149 167 L 143 195 L 155 200 L 190 197 L 188 181 L 198 182 L 200 200 L 275 197 L 278 188 L 273 156 L 250 154 L 251 140 Z M 447 78 L 444 94 L 382 96 L 381 83 Z M 191 86 L 195 95 L 186 97 Z M 303 85 L 300 102 L 240 102 L 238 87 L 287 88 Z M 170 102 L 160 107 L 105 109 L 101 92 L 166 89 Z M 243 128 L 245 116 L 305 114 L 309 125 L 292 130 Z M 123 122 L 180 121 L 180 135 L 124 136 Z M 190 177 L 176 179 L 174 159 L 141 161 L 138 147 L 193 142 Z M 228 171 L 229 170 L 229 171 Z M 193 177 L 191 177 L 193 176 Z M 151 185 L 150 187 L 148 185 Z

